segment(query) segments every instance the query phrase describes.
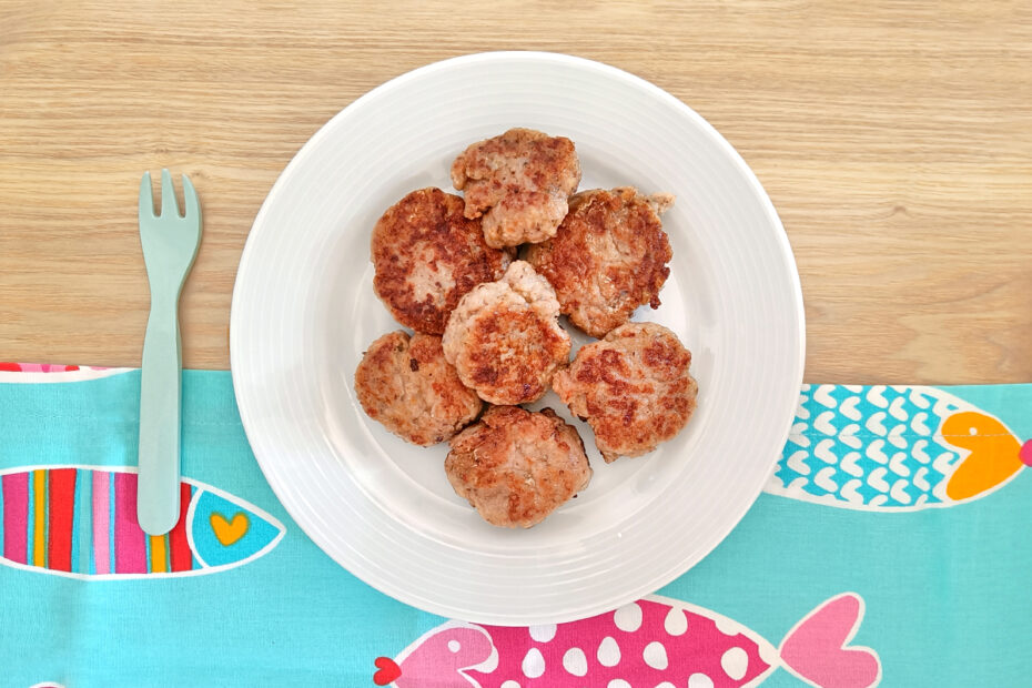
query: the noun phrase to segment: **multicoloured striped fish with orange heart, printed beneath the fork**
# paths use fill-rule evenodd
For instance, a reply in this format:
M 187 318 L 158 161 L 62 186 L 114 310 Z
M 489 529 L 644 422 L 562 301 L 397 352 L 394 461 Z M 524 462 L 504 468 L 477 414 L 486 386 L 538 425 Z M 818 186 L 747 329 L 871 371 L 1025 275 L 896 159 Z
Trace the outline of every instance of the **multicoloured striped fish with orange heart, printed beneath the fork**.
M 209 574 L 271 552 L 283 525 L 210 485 L 180 483 L 165 535 L 136 523 L 136 473 L 95 466 L 0 472 L 0 564 L 77 578 Z

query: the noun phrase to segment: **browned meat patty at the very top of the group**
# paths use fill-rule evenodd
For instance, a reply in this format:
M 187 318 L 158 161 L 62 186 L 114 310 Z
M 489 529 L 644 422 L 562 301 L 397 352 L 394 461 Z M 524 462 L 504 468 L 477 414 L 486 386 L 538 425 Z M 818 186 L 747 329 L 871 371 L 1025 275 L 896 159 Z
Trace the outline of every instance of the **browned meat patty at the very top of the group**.
M 517 246 L 555 235 L 580 162 L 569 139 L 510 129 L 456 158 L 452 183 L 465 191 L 466 217 L 484 216 L 488 245 Z

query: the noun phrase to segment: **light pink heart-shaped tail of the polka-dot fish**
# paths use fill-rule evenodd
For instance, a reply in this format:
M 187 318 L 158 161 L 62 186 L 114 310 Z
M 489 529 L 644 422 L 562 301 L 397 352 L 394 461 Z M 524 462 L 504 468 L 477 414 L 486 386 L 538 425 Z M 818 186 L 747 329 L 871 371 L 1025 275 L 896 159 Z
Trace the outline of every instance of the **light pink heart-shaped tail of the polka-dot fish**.
M 850 646 L 863 618 L 854 593 L 832 597 L 802 619 L 781 643 L 789 670 L 821 688 L 868 688 L 881 680 L 881 662 L 869 647 Z

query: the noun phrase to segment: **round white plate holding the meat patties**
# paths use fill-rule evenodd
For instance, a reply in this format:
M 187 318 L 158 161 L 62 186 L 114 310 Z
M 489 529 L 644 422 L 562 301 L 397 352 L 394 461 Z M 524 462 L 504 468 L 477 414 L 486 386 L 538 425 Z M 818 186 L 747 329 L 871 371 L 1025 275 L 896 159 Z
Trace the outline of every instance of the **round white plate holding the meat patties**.
M 398 327 L 373 293 L 373 224 L 414 189 L 449 189 L 455 155 L 510 127 L 570 138 L 581 189 L 630 184 L 677 195 L 664 216 L 674 261 L 662 306 L 635 320 L 680 336 L 700 391 L 688 427 L 646 457 L 604 464 L 578 422 L 591 484 L 518 532 L 485 524 L 455 496 L 446 445 L 405 444 L 365 416 L 352 389 L 365 347 Z M 262 471 L 331 557 L 427 611 L 556 623 L 654 591 L 742 517 L 796 407 L 802 296 L 759 182 L 684 103 L 583 59 L 474 54 L 371 91 L 297 153 L 241 259 L 230 351 Z M 552 393 L 546 403 L 566 412 Z

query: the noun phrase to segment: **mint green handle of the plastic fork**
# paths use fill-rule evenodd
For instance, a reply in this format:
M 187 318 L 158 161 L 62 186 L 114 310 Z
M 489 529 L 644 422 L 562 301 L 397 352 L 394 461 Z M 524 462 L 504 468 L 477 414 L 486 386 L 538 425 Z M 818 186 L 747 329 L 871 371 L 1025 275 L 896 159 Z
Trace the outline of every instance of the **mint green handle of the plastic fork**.
M 176 303 L 152 299 L 140 371 L 136 488 L 136 519 L 151 535 L 168 533 L 179 520 L 181 356 Z

